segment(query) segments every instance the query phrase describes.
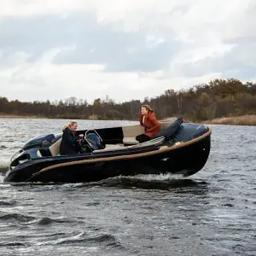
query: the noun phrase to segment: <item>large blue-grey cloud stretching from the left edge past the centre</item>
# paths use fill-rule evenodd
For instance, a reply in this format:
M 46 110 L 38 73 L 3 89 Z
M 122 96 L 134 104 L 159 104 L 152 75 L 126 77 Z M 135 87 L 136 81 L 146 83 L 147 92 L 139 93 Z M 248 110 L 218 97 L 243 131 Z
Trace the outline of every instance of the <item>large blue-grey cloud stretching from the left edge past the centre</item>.
M 100 63 L 106 72 L 154 71 L 166 67 L 181 44 L 172 37 L 160 45 L 146 47 L 145 32 L 117 32 L 96 23 L 92 15 L 20 17 L 0 25 L 2 60 L 16 51 L 37 60 L 46 50 L 76 45 L 76 49 L 55 56 L 55 63 Z M 94 49 L 94 50 L 92 50 Z

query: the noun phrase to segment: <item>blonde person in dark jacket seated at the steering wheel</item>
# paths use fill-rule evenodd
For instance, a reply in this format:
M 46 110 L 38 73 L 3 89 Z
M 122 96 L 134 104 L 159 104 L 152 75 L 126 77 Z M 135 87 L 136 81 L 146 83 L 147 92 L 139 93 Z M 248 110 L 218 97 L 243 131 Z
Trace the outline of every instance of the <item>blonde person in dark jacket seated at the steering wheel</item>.
M 62 127 L 62 140 L 60 145 L 60 154 L 79 154 L 79 137 L 84 137 L 80 134 L 79 137 L 76 136 L 75 131 L 78 129 L 78 123 L 70 121 L 67 125 Z

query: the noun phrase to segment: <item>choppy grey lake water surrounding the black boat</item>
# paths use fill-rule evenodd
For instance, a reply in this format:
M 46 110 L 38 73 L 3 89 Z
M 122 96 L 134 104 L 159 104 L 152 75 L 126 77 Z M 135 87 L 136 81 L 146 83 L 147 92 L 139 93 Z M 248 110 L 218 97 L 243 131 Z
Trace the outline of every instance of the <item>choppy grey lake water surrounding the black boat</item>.
M 5 168 L 23 143 L 59 132 L 64 120 L 0 122 Z M 129 122 L 107 123 L 120 124 Z M 211 126 L 207 165 L 186 179 L 141 175 L 36 185 L 1 177 L 0 254 L 256 255 L 256 127 Z

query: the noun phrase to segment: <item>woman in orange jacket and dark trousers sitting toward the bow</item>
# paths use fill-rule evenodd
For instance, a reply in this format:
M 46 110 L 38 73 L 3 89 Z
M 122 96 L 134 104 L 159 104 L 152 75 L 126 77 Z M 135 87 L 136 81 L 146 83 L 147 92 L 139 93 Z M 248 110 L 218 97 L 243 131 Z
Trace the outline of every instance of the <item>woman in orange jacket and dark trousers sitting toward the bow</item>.
M 139 143 L 149 141 L 151 137 L 154 137 L 160 131 L 160 123 L 155 118 L 153 109 L 148 105 L 142 106 L 139 121 L 145 129 L 145 133 L 136 137 Z

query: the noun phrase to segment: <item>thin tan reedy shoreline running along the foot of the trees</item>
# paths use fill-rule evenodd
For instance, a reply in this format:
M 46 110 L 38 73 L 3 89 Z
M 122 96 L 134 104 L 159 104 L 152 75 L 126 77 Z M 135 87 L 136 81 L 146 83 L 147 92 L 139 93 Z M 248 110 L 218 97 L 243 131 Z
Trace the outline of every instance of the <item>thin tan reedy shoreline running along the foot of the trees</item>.
M 67 118 L 67 117 L 54 118 L 54 117 L 45 117 L 45 116 L 39 116 L 39 115 L 18 115 L 18 114 L 0 113 L 0 119 L 70 119 L 70 118 Z M 76 118 L 76 119 L 79 120 L 79 119 L 83 119 L 83 118 Z M 169 118 L 165 118 L 165 119 L 160 119 L 160 121 L 166 121 L 166 120 L 174 121 L 175 119 L 177 119 L 177 118 L 169 117 Z M 111 121 L 112 119 L 88 119 L 88 120 L 109 120 L 109 121 Z M 122 119 L 119 119 L 119 120 L 122 120 Z M 127 121 L 127 120 L 125 119 L 125 121 Z M 136 121 L 136 120 L 130 120 L 130 121 Z M 255 126 L 256 125 L 256 114 L 247 114 L 247 115 L 241 115 L 241 116 L 223 117 L 223 118 L 207 119 L 207 120 L 195 120 L 192 122 L 208 124 L 208 125 L 251 125 L 251 126 Z

